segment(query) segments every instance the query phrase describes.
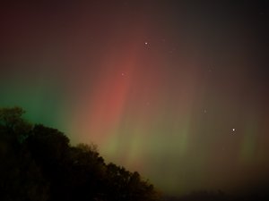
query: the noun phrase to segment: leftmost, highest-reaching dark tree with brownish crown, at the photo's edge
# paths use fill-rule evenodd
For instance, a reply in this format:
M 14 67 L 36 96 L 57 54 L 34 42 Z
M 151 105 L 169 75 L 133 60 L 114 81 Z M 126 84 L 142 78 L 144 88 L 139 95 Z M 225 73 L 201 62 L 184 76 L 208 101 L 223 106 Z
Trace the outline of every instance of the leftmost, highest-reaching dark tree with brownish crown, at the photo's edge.
M 22 108 L 0 109 L 0 200 L 48 200 L 48 182 L 31 158 Z

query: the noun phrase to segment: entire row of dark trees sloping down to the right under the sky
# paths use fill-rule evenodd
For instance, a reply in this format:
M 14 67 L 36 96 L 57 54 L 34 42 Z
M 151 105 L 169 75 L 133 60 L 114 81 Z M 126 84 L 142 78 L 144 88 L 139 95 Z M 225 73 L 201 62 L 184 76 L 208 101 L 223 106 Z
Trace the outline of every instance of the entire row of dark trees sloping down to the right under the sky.
M 154 201 L 159 193 L 138 172 L 105 163 L 96 147 L 71 146 L 64 133 L 0 109 L 0 200 Z

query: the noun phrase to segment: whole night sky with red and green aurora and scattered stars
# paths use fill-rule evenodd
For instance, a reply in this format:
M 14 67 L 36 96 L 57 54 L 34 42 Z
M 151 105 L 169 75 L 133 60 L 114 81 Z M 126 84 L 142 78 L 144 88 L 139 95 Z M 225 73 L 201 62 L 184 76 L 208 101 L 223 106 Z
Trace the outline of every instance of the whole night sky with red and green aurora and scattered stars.
M 9 1 L 0 106 L 164 193 L 269 178 L 269 1 Z

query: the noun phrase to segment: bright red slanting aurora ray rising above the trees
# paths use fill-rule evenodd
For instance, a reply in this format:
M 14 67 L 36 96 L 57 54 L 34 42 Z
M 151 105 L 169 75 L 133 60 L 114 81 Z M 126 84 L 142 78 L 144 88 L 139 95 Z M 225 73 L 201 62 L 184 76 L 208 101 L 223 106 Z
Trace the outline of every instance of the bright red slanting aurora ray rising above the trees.
M 86 140 L 92 137 L 101 147 L 106 143 L 108 135 L 116 133 L 132 87 L 137 39 L 132 36 L 130 38 L 133 42 L 124 46 L 121 52 L 117 52 L 117 47 L 116 50 L 107 50 L 111 54 L 104 55 L 100 63 L 97 63 L 100 72 L 96 73 L 98 77 L 94 83 L 96 87 L 90 93 L 82 91 L 79 95 L 81 98 L 74 105 L 76 114 L 71 121 L 71 124 L 74 124 L 72 130 L 80 130 Z M 89 84 L 87 80 L 83 83 Z

